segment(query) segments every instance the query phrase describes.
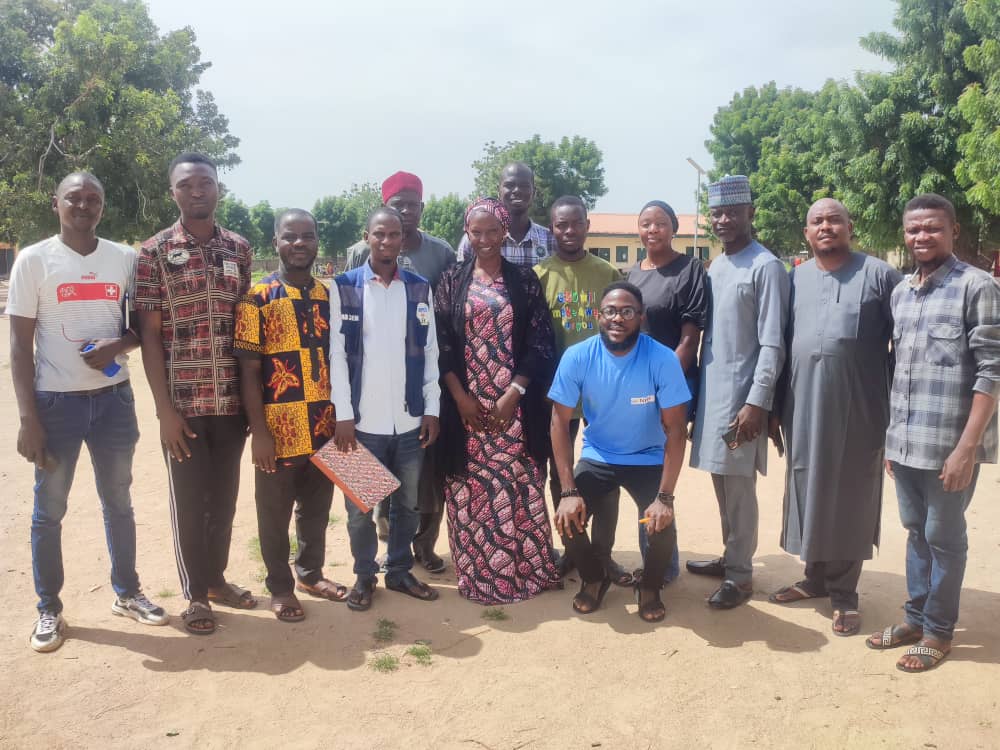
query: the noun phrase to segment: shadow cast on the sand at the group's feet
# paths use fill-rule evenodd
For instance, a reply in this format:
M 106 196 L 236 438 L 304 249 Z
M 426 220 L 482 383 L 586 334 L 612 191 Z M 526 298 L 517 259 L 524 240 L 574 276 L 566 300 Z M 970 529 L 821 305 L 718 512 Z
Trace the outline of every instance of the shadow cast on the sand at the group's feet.
M 701 559 L 710 554 L 682 551 L 681 558 Z M 637 552 L 616 553 L 626 567 L 639 564 Z M 714 648 L 738 648 L 760 642 L 777 652 L 818 651 L 837 638 L 830 630 L 831 606 L 828 599 L 814 599 L 792 605 L 776 605 L 767 595 L 802 577 L 802 563 L 787 555 L 767 555 L 755 561 L 754 597 L 746 606 L 718 612 L 706 604 L 718 581 L 682 572 L 663 590 L 667 606 L 664 622 L 650 625 L 635 614 L 631 589 L 612 586 L 600 610 L 580 618 L 571 608 L 579 579 L 571 574 L 562 591 L 542 594 L 530 601 L 504 607 L 509 619 L 483 619 L 484 607 L 458 595 L 451 570 L 431 576 L 428 581 L 441 593 L 433 603 L 418 602 L 384 588 L 376 590 L 374 605 L 355 613 L 343 604 L 301 597 L 307 619 L 301 623 L 278 622 L 267 609 L 267 597 L 257 610 L 245 612 L 218 607 L 219 629 L 215 635 L 188 635 L 175 617 L 166 628 L 103 629 L 73 627 L 71 638 L 111 649 L 144 654 L 147 669 L 158 672 L 206 670 L 210 672 L 255 672 L 285 674 L 306 664 L 325 670 L 349 670 L 362 666 L 372 652 L 384 649 L 374 639 L 380 619 L 397 625 L 393 644 L 416 641 L 428 643 L 435 655 L 451 659 L 476 656 L 483 646 L 482 636 L 491 630 L 527 633 L 549 623 L 582 619 L 600 628 L 623 635 L 641 635 L 657 628 L 681 628 L 693 632 Z M 865 571 L 861 577 L 862 636 L 880 630 L 902 618 L 906 581 L 901 574 Z M 816 612 L 813 627 L 791 622 L 786 609 Z M 800 619 L 800 618 L 796 618 Z M 965 589 L 962 592 L 962 620 L 956 632 L 951 659 L 976 663 L 1000 663 L 1000 645 L 994 637 L 1000 619 L 1000 593 Z M 863 638 L 854 639 L 864 648 Z

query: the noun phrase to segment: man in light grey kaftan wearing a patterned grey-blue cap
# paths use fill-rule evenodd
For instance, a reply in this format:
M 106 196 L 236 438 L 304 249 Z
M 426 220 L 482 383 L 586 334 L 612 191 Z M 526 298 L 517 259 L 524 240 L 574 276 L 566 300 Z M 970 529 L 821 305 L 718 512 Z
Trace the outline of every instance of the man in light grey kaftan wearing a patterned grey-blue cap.
M 757 549 L 756 472 L 767 471 L 767 415 L 784 363 L 788 274 L 752 238 L 750 184 L 742 175 L 709 185 L 709 216 L 725 253 L 708 270 L 710 311 L 691 466 L 712 473 L 725 554 L 689 560 L 692 573 L 723 578 L 708 603 L 730 609 L 750 598 Z M 735 439 L 723 435 L 735 429 Z

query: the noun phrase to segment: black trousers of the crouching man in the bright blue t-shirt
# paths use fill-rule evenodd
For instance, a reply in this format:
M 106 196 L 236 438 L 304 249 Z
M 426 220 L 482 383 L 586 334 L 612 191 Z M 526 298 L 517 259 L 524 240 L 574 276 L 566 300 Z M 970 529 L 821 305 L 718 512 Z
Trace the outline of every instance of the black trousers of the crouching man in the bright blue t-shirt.
M 607 561 L 611 558 L 611 548 L 597 532 L 599 526 L 607 525 L 607 518 L 614 511 L 617 519 L 618 495 L 624 488 L 634 499 L 642 513 L 656 499 L 660 489 L 662 466 L 619 466 L 596 461 L 581 460 L 575 471 L 576 487 L 587 505 L 588 514 L 594 519 L 594 539 L 586 532 L 574 532 L 572 537 L 563 535 L 566 554 L 580 571 L 585 583 L 604 580 Z M 671 523 L 656 534 L 649 535 L 649 552 L 643 566 L 642 579 L 659 588 L 663 574 L 670 564 L 677 543 L 677 532 Z

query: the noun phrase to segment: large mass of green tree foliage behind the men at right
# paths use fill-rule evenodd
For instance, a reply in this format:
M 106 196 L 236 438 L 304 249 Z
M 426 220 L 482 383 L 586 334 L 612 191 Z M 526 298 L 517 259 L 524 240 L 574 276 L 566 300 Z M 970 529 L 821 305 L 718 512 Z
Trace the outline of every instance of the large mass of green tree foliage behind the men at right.
M 749 175 L 758 233 L 786 252 L 802 247 L 806 208 L 824 195 L 850 209 L 862 247 L 883 252 L 901 244 L 906 202 L 941 193 L 965 227 L 960 254 L 975 259 L 1000 227 L 998 18 L 1000 0 L 898 0 L 897 34 L 861 40 L 889 72 L 737 94 L 706 142 L 712 176 Z

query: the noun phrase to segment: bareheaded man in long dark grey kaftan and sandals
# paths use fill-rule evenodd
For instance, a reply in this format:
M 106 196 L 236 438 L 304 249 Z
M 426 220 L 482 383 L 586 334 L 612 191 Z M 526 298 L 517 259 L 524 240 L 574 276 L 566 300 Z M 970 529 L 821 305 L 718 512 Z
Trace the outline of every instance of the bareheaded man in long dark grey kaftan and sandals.
M 788 358 L 771 434 L 787 446 L 781 546 L 806 577 L 773 594 L 788 602 L 829 596 L 833 630 L 860 627 L 857 584 L 878 544 L 891 378 L 889 300 L 902 275 L 852 252 L 852 225 L 838 201 L 806 217 L 814 258 L 792 269 Z

